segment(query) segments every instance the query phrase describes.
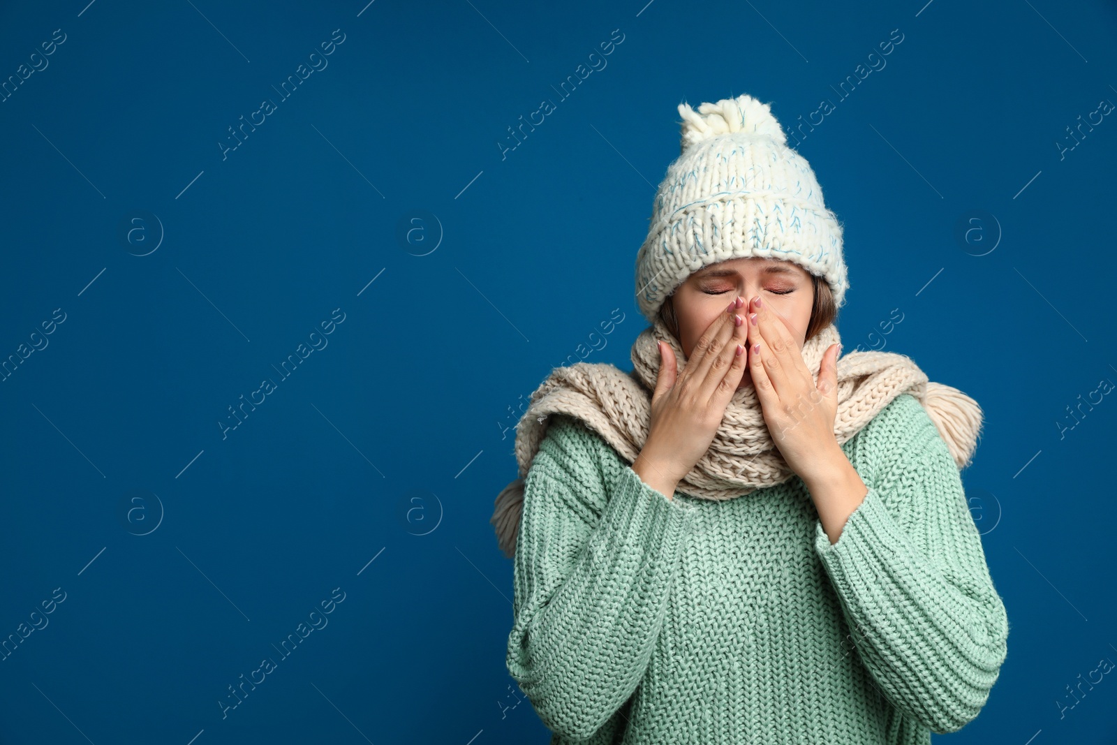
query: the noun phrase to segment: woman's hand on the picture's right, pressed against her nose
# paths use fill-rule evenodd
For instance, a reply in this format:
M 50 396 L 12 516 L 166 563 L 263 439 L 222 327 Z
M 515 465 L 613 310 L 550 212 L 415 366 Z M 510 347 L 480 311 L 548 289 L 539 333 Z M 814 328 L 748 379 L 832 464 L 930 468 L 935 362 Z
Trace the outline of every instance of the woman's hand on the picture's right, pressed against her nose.
M 756 297 L 748 303 L 746 324 L 748 370 L 764 421 L 787 466 L 810 485 L 824 477 L 837 456 L 844 460 L 834 437 L 840 345 L 832 344 L 823 353 L 815 384 L 782 315 Z

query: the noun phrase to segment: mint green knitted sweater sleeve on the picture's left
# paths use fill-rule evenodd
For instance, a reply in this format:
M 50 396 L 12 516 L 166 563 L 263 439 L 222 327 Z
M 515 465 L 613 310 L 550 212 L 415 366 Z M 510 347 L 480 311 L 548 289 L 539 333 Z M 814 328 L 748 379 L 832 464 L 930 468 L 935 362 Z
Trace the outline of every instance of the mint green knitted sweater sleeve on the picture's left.
M 630 466 L 608 477 L 599 448 L 609 446 L 560 418 L 532 462 L 507 649 L 508 671 L 543 723 L 577 739 L 640 684 L 694 519 Z

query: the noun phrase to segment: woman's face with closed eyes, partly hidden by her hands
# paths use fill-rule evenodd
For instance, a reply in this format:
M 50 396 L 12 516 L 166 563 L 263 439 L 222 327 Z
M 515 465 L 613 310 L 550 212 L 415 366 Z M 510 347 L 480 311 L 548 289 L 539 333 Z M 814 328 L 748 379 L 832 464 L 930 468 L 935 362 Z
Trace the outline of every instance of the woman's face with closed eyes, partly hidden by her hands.
M 792 261 L 748 257 L 699 269 L 675 290 L 672 303 L 679 322 L 679 344 L 688 360 L 717 314 L 725 313 L 729 302 L 738 295 L 745 305 L 736 313 L 745 324 L 748 323 L 748 303 L 760 295 L 764 304 L 786 322 L 799 348 L 803 348 L 814 307 L 811 274 Z M 752 355 L 752 350 L 745 350 L 745 354 Z M 752 371 L 746 364 L 737 388 L 752 384 Z

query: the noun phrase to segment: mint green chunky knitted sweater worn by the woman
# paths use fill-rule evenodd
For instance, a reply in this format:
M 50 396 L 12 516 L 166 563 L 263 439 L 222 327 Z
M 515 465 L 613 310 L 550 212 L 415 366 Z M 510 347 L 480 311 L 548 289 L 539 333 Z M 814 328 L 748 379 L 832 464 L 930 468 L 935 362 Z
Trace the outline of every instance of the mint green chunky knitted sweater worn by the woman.
M 524 481 L 507 650 L 552 745 L 929 743 L 977 716 L 1009 622 L 914 397 L 842 446 L 868 495 L 836 544 L 798 477 L 668 499 L 553 417 Z

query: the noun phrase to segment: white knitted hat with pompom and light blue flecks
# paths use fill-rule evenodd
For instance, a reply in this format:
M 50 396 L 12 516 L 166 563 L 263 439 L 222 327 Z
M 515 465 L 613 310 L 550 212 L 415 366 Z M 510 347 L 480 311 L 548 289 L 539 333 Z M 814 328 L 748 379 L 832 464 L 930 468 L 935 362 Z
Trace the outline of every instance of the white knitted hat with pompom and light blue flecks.
M 794 261 L 844 302 L 842 228 L 814 171 L 787 146 L 767 104 L 747 94 L 679 104 L 680 155 L 656 192 L 636 259 L 637 303 L 655 323 L 663 299 L 703 267 L 762 256 Z

